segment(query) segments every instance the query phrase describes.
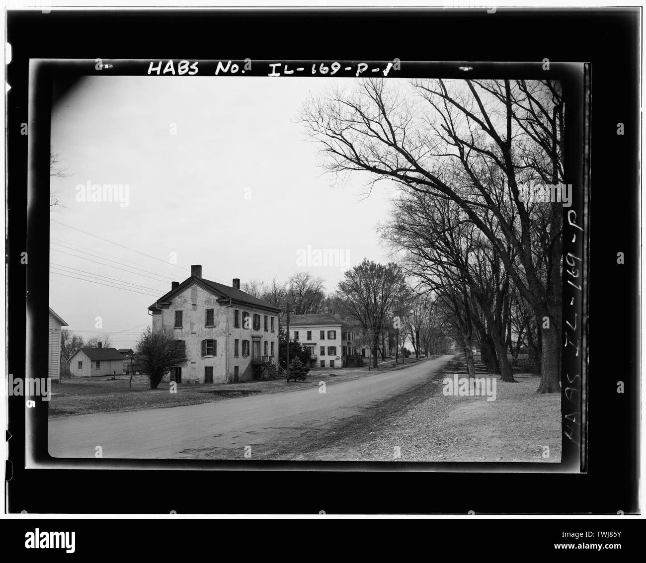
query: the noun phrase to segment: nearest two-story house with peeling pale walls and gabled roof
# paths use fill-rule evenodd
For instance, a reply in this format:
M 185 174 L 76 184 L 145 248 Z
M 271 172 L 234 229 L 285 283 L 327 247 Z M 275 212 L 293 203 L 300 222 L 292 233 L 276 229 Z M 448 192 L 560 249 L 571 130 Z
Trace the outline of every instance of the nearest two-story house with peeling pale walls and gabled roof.
M 152 331 L 165 331 L 186 346 L 188 361 L 171 372 L 176 382 L 237 383 L 278 377 L 280 309 L 240 290 L 202 278 L 172 282 L 171 291 L 148 308 Z

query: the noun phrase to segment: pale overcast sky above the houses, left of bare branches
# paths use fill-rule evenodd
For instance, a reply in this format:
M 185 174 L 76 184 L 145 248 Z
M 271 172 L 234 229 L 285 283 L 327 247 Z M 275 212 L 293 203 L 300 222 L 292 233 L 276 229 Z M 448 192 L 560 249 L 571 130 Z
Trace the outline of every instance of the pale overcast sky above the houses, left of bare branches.
M 307 270 L 333 291 L 340 266 L 386 261 L 375 226 L 393 188 L 382 182 L 364 198 L 365 176 L 333 185 L 296 121 L 332 80 L 351 81 L 93 76 L 61 97 L 52 147 L 68 176 L 51 180 L 63 207 L 50 225 L 50 307 L 68 329 L 134 348 L 148 306 L 191 264 L 227 285 Z M 88 182 L 127 184 L 127 206 L 78 201 L 76 187 Z M 347 260 L 297 267 L 307 245 Z

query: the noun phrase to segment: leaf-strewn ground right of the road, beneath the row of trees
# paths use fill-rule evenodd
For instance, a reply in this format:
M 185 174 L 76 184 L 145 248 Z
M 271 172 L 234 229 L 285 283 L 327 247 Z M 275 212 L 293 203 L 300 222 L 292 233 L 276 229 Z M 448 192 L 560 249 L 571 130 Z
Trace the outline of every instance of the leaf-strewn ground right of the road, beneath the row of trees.
M 539 378 L 496 382 L 496 398 L 445 396 L 451 365 L 432 380 L 385 400 L 325 436 L 295 448 L 294 460 L 559 462 L 561 396 L 539 394 Z M 463 373 L 460 376 L 465 375 Z M 478 374 L 488 377 L 489 374 Z M 548 448 L 548 449 L 547 449 Z

